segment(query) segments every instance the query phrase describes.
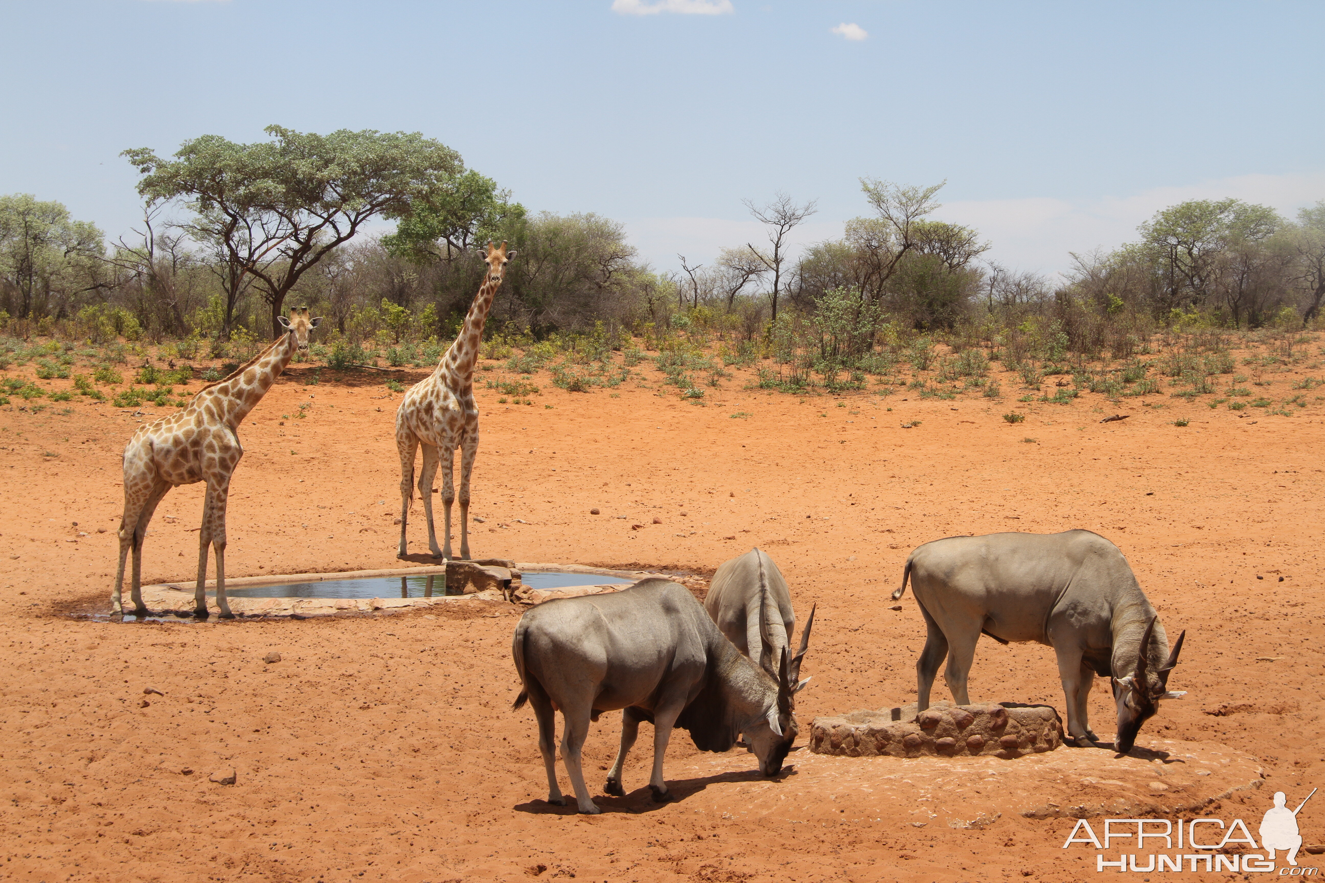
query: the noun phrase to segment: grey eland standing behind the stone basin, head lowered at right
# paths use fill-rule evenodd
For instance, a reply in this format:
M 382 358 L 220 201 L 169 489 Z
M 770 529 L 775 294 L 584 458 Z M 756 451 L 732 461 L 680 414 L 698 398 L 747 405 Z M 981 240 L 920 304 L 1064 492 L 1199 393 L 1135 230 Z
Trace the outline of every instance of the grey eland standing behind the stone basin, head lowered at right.
M 1117 545 L 1090 531 L 950 536 L 906 557 L 906 580 L 925 616 L 928 637 L 916 662 L 918 711 L 929 707 L 943 657 L 943 679 L 959 706 L 980 633 L 999 643 L 1053 647 L 1067 698 L 1068 737 L 1097 743 L 1086 719 L 1096 674 L 1110 678 L 1118 711 L 1114 749 L 1132 751 L 1141 724 L 1169 692 L 1186 631 L 1169 650 L 1159 618 Z

